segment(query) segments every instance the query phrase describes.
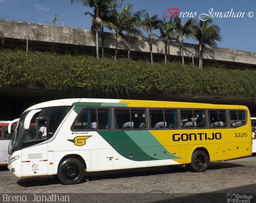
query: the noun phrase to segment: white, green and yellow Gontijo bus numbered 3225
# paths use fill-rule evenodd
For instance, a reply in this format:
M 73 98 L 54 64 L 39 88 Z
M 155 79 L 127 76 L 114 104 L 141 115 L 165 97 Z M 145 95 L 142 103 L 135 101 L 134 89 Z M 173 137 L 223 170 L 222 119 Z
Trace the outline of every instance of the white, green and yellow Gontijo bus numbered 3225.
M 55 175 L 66 185 L 91 171 L 188 165 L 204 172 L 210 161 L 251 156 L 251 133 L 246 106 L 61 99 L 22 113 L 8 168 L 17 177 Z

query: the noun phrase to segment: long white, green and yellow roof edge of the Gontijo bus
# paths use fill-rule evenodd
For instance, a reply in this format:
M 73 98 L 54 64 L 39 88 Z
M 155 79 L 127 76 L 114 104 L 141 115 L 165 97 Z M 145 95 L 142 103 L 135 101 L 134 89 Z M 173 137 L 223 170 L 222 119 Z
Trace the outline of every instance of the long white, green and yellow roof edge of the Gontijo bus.
M 193 102 L 174 102 L 174 101 L 148 101 L 148 100 L 127 100 L 127 99 L 91 99 L 91 98 L 74 98 L 74 99 L 59 99 L 53 101 L 42 102 L 27 108 L 27 110 L 44 108 L 50 106 L 113 106 L 113 107 L 173 107 L 180 108 L 184 105 L 185 108 L 225 108 L 225 109 L 248 109 L 241 105 L 227 104 L 206 104 Z M 182 106 L 183 107 L 183 106 Z

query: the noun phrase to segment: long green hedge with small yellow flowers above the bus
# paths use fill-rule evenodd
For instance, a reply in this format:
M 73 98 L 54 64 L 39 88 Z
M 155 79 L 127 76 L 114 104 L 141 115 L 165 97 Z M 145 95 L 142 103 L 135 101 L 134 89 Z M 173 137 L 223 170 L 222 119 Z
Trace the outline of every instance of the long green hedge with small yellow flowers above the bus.
M 96 60 L 20 50 L 0 51 L 0 86 L 255 97 L 254 70 L 182 66 L 120 58 Z

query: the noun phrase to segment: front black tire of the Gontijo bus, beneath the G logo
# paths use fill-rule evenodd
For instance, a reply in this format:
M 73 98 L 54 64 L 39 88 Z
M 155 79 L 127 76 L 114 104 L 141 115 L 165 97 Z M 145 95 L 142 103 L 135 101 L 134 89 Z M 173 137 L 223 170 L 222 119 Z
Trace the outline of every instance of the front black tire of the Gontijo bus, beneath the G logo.
M 75 159 L 68 158 L 64 160 L 58 168 L 58 179 L 64 185 L 78 184 L 84 178 L 84 166 Z

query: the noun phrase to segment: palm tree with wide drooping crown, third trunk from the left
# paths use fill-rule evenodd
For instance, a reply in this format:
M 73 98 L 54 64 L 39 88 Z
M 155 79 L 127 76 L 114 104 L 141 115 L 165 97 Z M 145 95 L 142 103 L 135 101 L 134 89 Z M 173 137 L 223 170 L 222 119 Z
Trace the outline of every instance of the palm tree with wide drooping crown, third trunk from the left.
M 131 9 L 132 4 L 127 4 L 124 6 L 122 12 L 119 13 L 117 6 L 115 6 L 112 10 L 112 20 L 108 22 L 108 28 L 116 31 L 115 61 L 117 58 L 118 43 L 120 43 L 122 39 L 125 39 L 124 32 L 129 32 L 130 34 L 140 33 L 137 28 L 131 26 L 132 22 L 138 19 L 137 16 L 130 15 Z

